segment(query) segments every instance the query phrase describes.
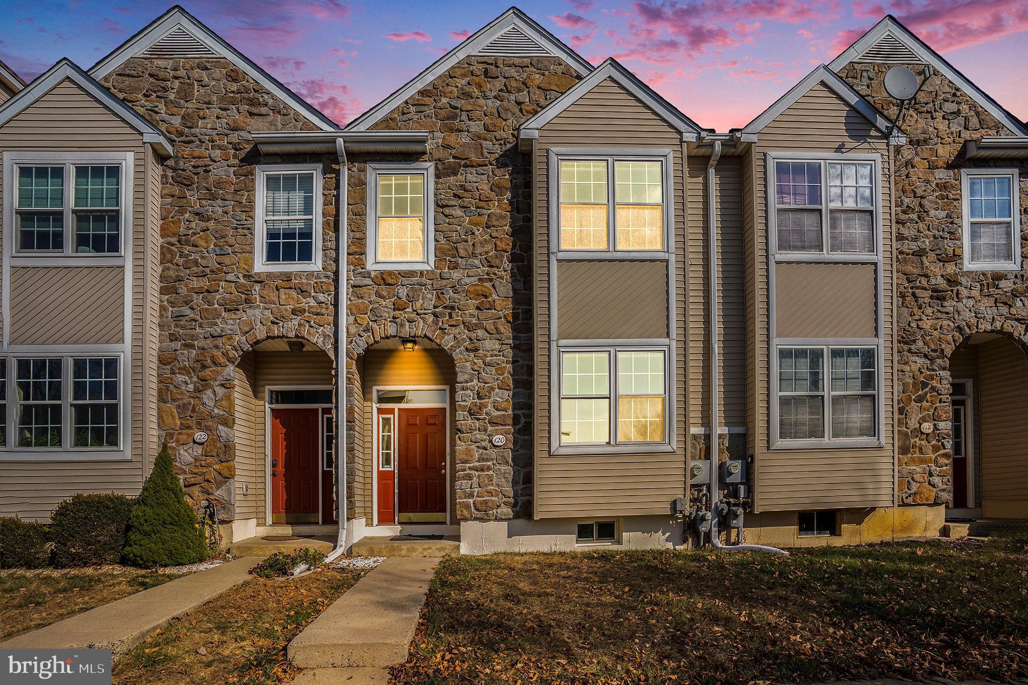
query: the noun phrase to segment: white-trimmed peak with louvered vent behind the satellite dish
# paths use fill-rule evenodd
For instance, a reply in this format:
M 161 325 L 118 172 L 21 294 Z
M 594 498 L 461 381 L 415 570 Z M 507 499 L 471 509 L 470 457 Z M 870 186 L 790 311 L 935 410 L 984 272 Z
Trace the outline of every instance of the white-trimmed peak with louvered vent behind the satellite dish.
M 913 58 L 911 56 L 913 55 Z M 927 43 L 918 38 L 900 20 L 891 14 L 886 15 L 868 33 L 829 64 L 832 71 L 838 72 L 850 62 L 878 62 L 886 64 L 921 63 L 931 65 L 943 76 L 953 81 L 971 100 L 982 106 L 999 123 L 1019 136 L 1028 136 L 1028 128 L 1017 117 L 1004 110 L 999 104 L 957 71 L 953 65 L 928 47 Z

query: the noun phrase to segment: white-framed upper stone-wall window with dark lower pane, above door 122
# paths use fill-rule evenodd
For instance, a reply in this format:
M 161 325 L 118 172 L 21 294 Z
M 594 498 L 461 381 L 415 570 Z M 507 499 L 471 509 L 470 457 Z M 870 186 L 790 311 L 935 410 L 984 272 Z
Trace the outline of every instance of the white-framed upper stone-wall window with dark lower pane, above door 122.
M 321 164 L 257 167 L 256 271 L 321 270 Z

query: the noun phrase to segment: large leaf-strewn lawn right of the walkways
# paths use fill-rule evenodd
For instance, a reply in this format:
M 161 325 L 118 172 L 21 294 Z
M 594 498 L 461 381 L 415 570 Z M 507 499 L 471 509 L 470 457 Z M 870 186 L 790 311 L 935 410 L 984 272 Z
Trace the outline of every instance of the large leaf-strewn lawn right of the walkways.
M 745 553 L 446 558 L 405 683 L 1028 676 L 1028 530 Z

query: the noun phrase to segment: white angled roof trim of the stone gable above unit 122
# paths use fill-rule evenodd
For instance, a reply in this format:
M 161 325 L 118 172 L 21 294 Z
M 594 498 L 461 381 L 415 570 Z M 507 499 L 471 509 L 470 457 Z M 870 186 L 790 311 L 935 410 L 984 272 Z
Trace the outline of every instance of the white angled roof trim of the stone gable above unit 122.
M 280 83 L 273 76 L 251 62 L 242 52 L 225 42 L 218 34 L 214 33 L 199 20 L 192 14 L 175 6 L 150 23 L 145 29 L 135 36 L 121 43 L 113 52 L 103 58 L 89 69 L 89 75 L 100 80 L 117 69 L 130 58 L 136 56 L 149 49 L 154 43 L 167 37 L 176 28 L 181 28 L 187 32 L 197 42 L 201 43 L 214 53 L 225 58 L 233 65 L 242 69 L 250 78 L 254 79 L 265 88 L 270 90 L 277 98 L 302 114 L 310 123 L 322 130 L 338 130 L 331 119 L 319 112 L 313 106 L 303 102 L 296 93 Z

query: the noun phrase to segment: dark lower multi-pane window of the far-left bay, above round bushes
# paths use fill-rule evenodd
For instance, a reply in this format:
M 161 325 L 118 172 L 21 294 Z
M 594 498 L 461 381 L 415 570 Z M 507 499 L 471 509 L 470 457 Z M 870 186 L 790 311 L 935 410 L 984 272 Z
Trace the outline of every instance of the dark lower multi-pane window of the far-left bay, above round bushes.
M 117 356 L 50 355 L 0 358 L 8 364 L 14 395 L 0 382 L 6 425 L 13 412 L 12 448 L 33 450 L 112 450 L 121 443 L 121 379 Z M 6 431 L 0 447 L 7 447 Z

